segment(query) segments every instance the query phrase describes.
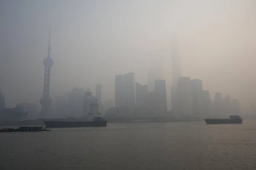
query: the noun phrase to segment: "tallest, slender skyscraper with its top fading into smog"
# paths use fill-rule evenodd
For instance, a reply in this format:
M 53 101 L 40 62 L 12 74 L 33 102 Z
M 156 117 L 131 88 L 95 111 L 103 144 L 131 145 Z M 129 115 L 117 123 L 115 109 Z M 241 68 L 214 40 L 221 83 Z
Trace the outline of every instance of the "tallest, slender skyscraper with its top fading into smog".
M 178 96 L 177 96 L 177 82 L 178 77 L 182 77 L 181 66 L 180 66 L 180 56 L 178 53 L 178 45 L 176 37 L 172 37 L 172 87 L 171 87 L 171 98 L 172 98 L 172 110 L 177 116 L 178 110 Z

